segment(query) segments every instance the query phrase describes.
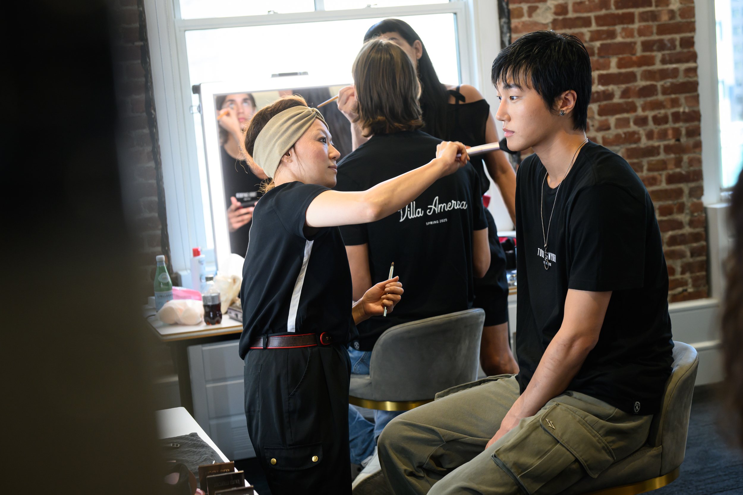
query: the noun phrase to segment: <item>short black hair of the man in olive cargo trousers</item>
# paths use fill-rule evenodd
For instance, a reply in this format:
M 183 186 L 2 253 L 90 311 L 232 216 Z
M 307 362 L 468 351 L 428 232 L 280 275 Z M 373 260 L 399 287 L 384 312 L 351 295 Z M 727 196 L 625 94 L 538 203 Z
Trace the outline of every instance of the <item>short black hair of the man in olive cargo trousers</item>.
M 573 128 L 585 131 L 591 101 L 591 59 L 580 39 L 572 34 L 554 31 L 525 34 L 498 53 L 491 78 L 493 85 L 533 88 L 550 111 L 554 111 L 558 96 L 575 91 Z

